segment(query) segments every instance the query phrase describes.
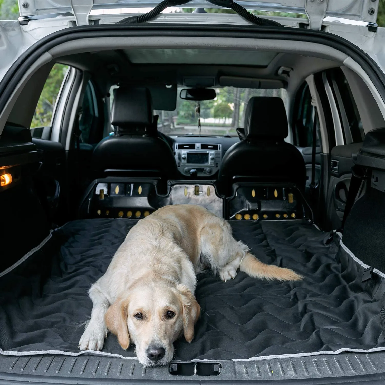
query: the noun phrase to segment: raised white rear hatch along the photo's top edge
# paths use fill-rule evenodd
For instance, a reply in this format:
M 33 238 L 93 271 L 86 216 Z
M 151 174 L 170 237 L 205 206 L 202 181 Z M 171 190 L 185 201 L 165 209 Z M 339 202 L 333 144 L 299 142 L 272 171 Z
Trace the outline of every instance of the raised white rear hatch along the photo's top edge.
M 35 0 L 27 3 L 24 0 L 19 1 L 20 17 L 33 18 L 52 15 L 65 15 L 73 13 L 76 16 L 77 25 L 88 25 L 88 17 L 91 11 L 95 14 L 100 10 L 110 10 L 110 14 L 117 13 L 125 9 L 127 13 L 147 12 L 155 8 L 159 0 L 61 0 L 51 2 L 49 0 Z M 265 0 L 259 2 L 256 0 L 238 0 L 237 3 L 248 10 L 262 10 L 273 12 L 286 12 L 307 15 L 310 20 L 311 29 L 320 29 L 321 23 L 325 17 L 341 18 L 354 20 L 362 23 L 376 23 L 378 3 L 371 0 Z M 229 2 L 223 0 L 186 0 L 169 1 L 169 7 L 195 7 L 195 8 L 226 8 Z

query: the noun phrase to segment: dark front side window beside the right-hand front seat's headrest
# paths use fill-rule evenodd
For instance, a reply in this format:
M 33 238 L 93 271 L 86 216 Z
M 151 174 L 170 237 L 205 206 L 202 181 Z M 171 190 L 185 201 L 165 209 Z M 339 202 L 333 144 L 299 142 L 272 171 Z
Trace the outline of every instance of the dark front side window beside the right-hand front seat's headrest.
M 297 92 L 293 113 L 293 140 L 295 146 L 312 147 L 314 128 L 314 107 L 311 105 L 311 94 L 305 82 Z M 317 142 L 319 146 L 318 132 Z

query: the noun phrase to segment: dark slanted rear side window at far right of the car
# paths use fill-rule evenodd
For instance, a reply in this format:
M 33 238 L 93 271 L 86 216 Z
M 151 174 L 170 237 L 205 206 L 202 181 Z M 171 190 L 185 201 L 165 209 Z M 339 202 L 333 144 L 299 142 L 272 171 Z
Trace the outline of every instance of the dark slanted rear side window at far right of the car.
M 327 75 L 338 106 L 345 144 L 362 142 L 365 132 L 361 117 L 343 71 L 340 68 L 334 68 L 329 70 Z

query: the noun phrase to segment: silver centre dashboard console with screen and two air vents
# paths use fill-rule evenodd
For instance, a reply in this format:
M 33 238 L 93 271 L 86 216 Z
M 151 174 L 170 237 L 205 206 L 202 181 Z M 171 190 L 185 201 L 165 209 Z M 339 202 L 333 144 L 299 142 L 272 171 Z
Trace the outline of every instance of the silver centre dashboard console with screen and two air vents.
M 214 175 L 221 164 L 222 145 L 219 143 L 175 143 L 178 170 L 190 176 L 196 170 L 198 177 Z

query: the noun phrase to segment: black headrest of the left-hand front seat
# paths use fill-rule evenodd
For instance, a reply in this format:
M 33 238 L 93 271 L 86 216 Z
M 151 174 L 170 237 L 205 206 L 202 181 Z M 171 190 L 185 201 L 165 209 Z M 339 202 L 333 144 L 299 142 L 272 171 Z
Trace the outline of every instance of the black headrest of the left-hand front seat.
M 153 129 L 154 111 L 149 89 L 119 87 L 115 89 L 111 109 L 111 124 L 119 131 L 142 133 Z

